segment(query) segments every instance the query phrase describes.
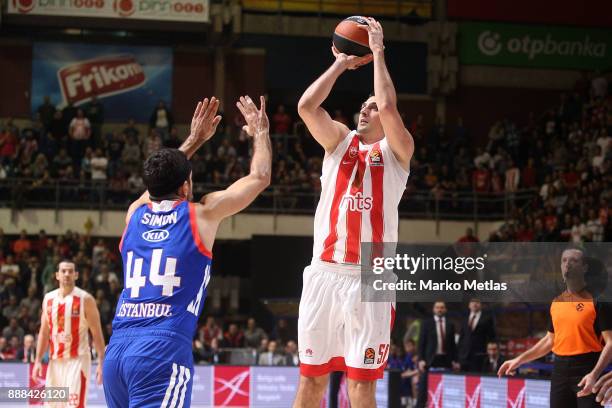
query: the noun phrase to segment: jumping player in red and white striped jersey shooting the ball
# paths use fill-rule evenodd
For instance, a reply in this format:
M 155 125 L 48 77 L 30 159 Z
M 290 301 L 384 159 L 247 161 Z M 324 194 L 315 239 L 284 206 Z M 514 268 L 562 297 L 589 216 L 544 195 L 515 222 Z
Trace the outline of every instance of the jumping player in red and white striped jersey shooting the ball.
M 398 210 L 414 152 L 385 65 L 383 30 L 367 19 L 371 55 L 333 49 L 332 66 L 304 93 L 298 111 L 325 149 L 314 253 L 304 270 L 298 338 L 300 385 L 294 407 L 319 407 L 329 373 L 345 371 L 351 406 L 374 407 L 376 380 L 389 353 L 393 302 L 361 302 L 361 242 L 396 242 Z M 357 130 L 331 119 L 321 104 L 340 75 L 374 61 L 374 93 Z

